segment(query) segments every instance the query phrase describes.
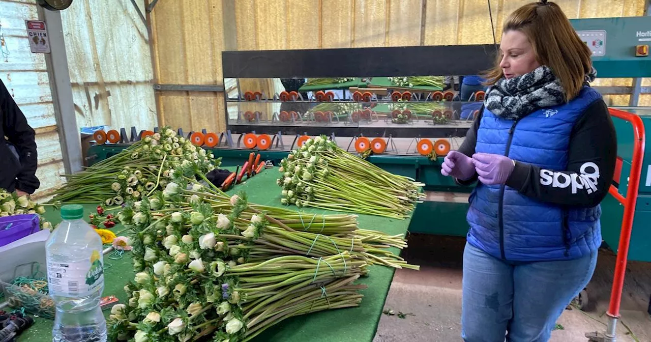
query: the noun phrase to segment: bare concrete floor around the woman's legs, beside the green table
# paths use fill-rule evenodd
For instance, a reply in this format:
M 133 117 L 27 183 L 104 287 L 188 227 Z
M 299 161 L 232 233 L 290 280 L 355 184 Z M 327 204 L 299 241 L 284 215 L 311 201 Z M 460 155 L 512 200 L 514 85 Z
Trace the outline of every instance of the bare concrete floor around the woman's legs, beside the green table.
M 382 315 L 374 342 L 462 341 L 461 279 L 465 238 L 413 234 L 404 257 L 421 265 L 420 271 L 397 270 L 385 309 L 396 315 Z M 607 320 L 615 255 L 600 251 L 597 269 L 587 287 L 589 307 L 586 311 L 566 310 L 558 323 L 564 330 L 555 330 L 550 342 L 586 342 L 586 332 L 603 332 Z M 651 317 L 646 312 L 651 296 L 651 263 L 629 263 L 624 281 L 621 305 L 622 320 L 618 324 L 620 342 L 634 342 L 624 322 L 639 342 L 651 341 Z M 408 313 L 404 319 L 397 313 Z M 603 316 L 602 316 L 603 315 Z

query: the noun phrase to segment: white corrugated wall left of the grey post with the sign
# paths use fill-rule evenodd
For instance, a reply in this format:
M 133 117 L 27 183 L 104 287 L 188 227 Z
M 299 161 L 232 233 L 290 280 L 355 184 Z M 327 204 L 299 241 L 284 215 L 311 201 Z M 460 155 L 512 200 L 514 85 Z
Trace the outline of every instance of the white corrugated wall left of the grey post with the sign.
M 36 131 L 36 177 L 41 186 L 35 197 L 43 197 L 62 184 L 59 176 L 65 171 L 45 58 L 29 50 L 25 20 L 30 19 L 38 20 L 35 1 L 0 0 L 0 39 L 5 42 L 0 53 L 0 78 Z

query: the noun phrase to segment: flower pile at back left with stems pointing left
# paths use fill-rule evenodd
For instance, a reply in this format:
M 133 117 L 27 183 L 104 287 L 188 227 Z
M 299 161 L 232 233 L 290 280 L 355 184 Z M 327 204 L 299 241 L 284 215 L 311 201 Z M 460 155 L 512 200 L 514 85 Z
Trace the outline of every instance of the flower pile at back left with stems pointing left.
M 65 175 L 66 184 L 55 190 L 53 201 L 63 203 L 105 203 L 124 201 L 165 188 L 171 169 L 184 163 L 199 165 L 208 173 L 219 166 L 212 153 L 192 145 L 169 127 L 151 137 L 133 143 L 115 156 L 87 167 L 74 175 Z

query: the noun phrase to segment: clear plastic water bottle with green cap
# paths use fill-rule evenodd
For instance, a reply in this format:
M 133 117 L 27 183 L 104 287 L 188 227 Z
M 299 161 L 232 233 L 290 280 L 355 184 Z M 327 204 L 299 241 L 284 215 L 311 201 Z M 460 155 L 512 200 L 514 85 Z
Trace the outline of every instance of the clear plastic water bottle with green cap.
M 105 342 L 102 239 L 81 219 L 81 205 L 64 205 L 61 218 L 46 242 L 49 294 L 57 307 L 52 341 Z

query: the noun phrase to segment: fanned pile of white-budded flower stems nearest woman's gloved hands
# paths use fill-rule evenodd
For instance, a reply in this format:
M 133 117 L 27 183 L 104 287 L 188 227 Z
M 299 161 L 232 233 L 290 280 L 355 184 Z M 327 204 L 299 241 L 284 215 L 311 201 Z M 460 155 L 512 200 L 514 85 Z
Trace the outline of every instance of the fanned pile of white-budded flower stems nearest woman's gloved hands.
M 281 162 L 283 204 L 404 219 L 423 196 L 423 184 L 393 175 L 315 137 Z

